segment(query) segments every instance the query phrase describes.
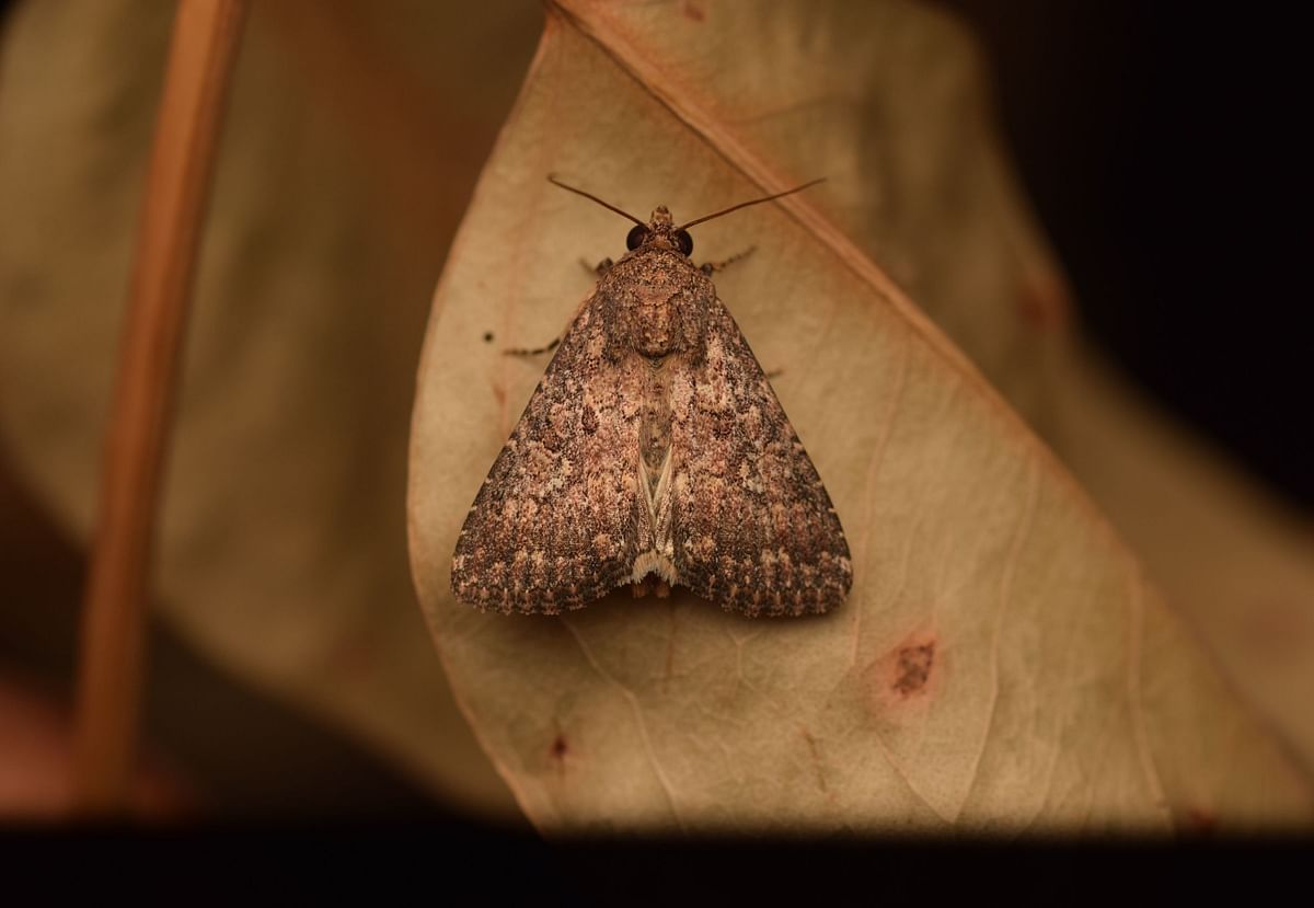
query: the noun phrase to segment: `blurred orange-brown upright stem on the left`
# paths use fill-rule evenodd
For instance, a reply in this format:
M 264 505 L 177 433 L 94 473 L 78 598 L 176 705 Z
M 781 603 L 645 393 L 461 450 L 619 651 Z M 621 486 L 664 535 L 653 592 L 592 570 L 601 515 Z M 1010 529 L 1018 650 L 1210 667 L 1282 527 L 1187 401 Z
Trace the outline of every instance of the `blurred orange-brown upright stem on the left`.
M 151 536 L 215 138 L 246 0 L 181 0 L 146 180 L 83 606 L 74 808 L 127 806 Z

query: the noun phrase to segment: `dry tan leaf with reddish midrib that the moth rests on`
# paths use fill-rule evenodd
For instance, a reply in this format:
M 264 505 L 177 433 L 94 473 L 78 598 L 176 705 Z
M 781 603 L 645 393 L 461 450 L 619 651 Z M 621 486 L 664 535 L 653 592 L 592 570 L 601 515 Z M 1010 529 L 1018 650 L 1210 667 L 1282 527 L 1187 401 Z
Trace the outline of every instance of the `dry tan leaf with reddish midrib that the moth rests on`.
M 1307 821 L 1306 781 L 1238 703 L 1039 424 L 1062 318 L 993 152 L 974 57 L 924 8 L 562 3 L 434 301 L 413 423 L 411 558 L 449 679 L 543 828 L 970 830 Z M 738 53 L 749 47 L 752 53 Z M 560 619 L 452 602 L 469 502 L 623 221 L 548 172 L 706 225 L 717 276 L 836 501 L 849 603 L 749 622 L 678 594 Z M 1029 314 L 995 325 L 1001 310 Z M 484 343 L 485 332 L 497 340 Z

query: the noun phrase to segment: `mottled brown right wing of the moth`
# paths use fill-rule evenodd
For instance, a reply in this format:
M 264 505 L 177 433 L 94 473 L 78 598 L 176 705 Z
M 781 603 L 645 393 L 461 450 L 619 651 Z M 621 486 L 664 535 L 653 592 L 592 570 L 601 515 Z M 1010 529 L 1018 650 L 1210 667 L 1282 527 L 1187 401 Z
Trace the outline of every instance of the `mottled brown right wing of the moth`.
M 849 545 L 816 466 L 725 306 L 702 359 L 673 363 L 679 583 L 748 615 L 800 615 L 849 593 Z

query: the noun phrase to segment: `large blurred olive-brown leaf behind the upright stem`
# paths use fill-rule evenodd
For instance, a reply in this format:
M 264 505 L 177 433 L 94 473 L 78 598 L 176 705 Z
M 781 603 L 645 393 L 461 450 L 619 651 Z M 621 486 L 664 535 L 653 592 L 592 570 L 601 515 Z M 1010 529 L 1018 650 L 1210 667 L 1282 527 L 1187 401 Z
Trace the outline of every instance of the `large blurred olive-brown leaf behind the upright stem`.
M 541 17 L 518 0 L 255 7 L 164 489 L 163 618 L 449 803 L 514 817 L 415 607 L 403 486 L 440 251 L 520 76 L 480 49 L 527 58 Z M 83 540 L 171 13 L 83 0 L 5 22 L 0 428 Z M 417 47 L 435 39 L 449 53 Z

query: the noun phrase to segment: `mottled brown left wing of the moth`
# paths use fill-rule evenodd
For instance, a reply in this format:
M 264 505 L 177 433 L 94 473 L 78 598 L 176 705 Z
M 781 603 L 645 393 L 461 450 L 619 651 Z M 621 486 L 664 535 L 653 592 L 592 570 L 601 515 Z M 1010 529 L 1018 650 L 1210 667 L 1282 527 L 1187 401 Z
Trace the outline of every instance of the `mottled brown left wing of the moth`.
M 637 488 L 643 364 L 581 309 L 465 518 L 452 591 L 480 608 L 555 614 L 629 579 L 652 545 Z

